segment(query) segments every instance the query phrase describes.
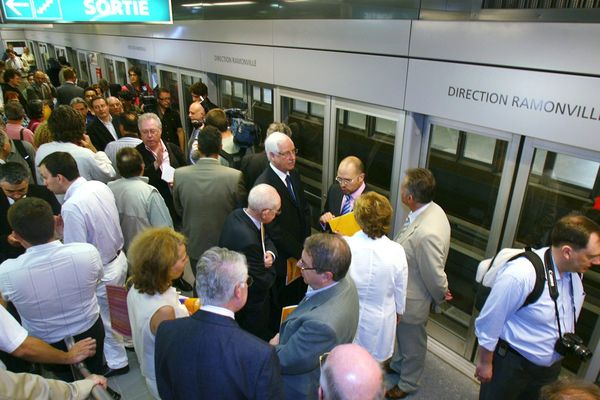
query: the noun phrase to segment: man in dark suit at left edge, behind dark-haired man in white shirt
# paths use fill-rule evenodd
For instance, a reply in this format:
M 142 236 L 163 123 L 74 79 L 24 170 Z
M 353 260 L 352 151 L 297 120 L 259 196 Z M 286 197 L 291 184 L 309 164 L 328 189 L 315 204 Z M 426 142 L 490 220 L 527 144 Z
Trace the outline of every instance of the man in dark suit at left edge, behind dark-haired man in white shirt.
M 60 214 L 60 204 L 56 196 L 44 186 L 29 184 L 29 170 L 20 163 L 8 162 L 0 165 L 0 262 L 16 258 L 25 249 L 15 240 L 8 225 L 8 208 L 25 197 L 37 197 L 52 207 L 54 215 Z

